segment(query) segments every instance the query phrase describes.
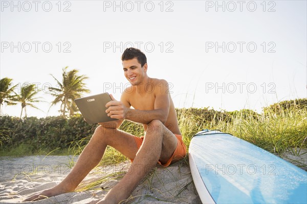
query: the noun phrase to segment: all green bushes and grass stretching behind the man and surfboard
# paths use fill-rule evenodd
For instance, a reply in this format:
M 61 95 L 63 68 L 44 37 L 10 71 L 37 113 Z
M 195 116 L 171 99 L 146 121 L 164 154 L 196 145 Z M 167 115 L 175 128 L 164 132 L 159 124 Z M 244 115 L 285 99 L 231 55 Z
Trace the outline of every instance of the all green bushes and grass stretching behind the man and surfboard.
M 204 109 L 176 109 L 183 140 L 189 146 L 194 134 L 202 129 L 221 130 L 242 138 L 279 155 L 285 150 L 307 148 L 307 99 L 281 101 L 263 109 L 233 112 Z M 17 117 L 0 116 L 0 146 L 2 150 L 36 152 L 70 148 L 80 154 L 93 135 L 97 124 L 87 124 L 81 115 L 19 120 Z M 142 136 L 142 124 L 125 120 L 119 128 L 127 133 Z M 21 146 L 20 146 L 21 145 Z M 1 154 L 1 151 L 0 151 Z M 20 153 L 21 154 L 21 153 Z M 299 152 L 298 152 L 299 154 Z M 108 147 L 102 162 L 116 163 L 126 158 Z

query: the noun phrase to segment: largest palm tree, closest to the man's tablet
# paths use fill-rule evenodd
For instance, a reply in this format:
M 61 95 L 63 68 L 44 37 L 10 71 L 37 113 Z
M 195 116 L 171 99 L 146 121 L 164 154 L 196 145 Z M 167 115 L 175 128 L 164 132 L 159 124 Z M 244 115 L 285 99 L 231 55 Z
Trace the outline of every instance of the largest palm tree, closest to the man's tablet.
M 85 75 L 78 75 L 78 70 L 73 69 L 67 71 L 68 67 L 62 69 L 62 82 L 57 80 L 52 74 L 52 77 L 57 82 L 58 88 L 50 87 L 49 90 L 52 92 L 51 95 L 55 99 L 51 102 L 50 108 L 57 104 L 61 103 L 60 112 L 62 116 L 65 117 L 67 112 L 72 116 L 76 111 L 76 105 L 74 100 L 76 98 L 82 97 L 82 93 L 89 93 L 90 90 L 86 89 L 84 80 L 88 79 Z

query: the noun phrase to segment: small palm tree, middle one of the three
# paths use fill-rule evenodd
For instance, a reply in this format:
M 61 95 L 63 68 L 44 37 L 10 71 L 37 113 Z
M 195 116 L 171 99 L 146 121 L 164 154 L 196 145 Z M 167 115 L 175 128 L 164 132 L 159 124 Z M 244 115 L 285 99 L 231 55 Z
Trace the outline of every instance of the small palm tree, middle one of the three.
M 39 92 L 39 90 L 35 89 L 35 84 L 29 84 L 26 86 L 21 87 L 20 94 L 16 95 L 14 98 L 14 101 L 21 103 L 21 113 L 20 117 L 23 115 L 23 110 L 25 109 L 25 116 L 27 117 L 27 106 L 30 106 L 32 108 L 38 109 L 36 106 L 34 106 L 32 103 L 41 102 L 42 100 L 39 100 L 40 97 L 34 98 L 34 96 Z

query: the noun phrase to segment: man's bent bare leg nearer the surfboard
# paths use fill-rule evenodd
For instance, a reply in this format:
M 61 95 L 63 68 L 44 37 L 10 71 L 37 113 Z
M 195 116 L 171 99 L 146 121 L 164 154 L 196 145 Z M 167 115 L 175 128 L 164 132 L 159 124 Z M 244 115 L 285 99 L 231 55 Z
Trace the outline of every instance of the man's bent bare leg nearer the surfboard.
M 143 177 L 156 166 L 159 159 L 162 163 L 168 161 L 177 143 L 176 136 L 161 121 L 151 121 L 144 142 L 128 170 L 129 173 L 99 203 L 119 203 L 128 198 Z

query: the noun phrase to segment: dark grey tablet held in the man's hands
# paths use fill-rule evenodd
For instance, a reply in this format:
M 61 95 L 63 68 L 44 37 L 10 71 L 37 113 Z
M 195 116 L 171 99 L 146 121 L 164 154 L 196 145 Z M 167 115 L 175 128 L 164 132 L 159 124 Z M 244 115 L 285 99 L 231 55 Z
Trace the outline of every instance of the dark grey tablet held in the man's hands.
M 111 101 L 108 93 L 101 93 L 92 96 L 86 96 L 75 99 L 83 118 L 87 123 L 93 124 L 98 122 L 107 122 L 117 120 L 107 116 L 105 104 Z

